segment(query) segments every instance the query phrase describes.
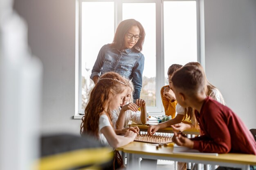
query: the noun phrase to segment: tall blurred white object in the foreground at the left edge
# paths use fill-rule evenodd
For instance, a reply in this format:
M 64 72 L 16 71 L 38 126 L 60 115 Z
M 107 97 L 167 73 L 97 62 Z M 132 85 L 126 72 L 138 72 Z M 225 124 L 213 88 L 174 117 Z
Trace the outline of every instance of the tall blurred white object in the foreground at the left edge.
M 30 170 L 39 155 L 43 67 L 12 5 L 0 1 L 0 170 Z

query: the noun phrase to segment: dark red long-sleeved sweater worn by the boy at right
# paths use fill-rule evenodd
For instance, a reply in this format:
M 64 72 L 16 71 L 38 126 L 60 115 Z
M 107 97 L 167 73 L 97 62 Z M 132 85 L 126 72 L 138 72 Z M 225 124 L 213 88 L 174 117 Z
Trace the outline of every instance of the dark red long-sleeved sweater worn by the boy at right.
M 200 113 L 196 111 L 195 116 L 202 135 L 191 139 L 194 141 L 193 149 L 200 152 L 256 155 L 256 142 L 252 133 L 229 107 L 207 97 Z

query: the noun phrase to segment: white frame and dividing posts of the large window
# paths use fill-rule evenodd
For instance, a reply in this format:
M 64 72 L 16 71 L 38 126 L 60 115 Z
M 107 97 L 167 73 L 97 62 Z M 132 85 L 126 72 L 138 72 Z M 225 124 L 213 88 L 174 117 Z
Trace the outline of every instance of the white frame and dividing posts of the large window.
M 75 118 L 84 114 L 81 75 L 81 4 L 82 2 L 114 2 L 114 29 L 122 21 L 123 3 L 155 3 L 156 7 L 156 107 L 147 106 L 150 114 L 163 114 L 164 107 L 157 89 L 164 86 L 164 1 L 196 1 L 197 60 L 204 67 L 204 0 L 76 0 L 75 48 Z

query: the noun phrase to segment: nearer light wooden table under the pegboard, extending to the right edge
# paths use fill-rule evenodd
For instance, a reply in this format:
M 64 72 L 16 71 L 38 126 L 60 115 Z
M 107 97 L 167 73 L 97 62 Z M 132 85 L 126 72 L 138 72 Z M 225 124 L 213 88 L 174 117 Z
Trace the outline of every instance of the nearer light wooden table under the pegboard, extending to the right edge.
M 117 150 L 127 154 L 128 170 L 139 170 L 139 158 L 212 164 L 242 168 L 242 170 L 249 170 L 249 165 L 256 165 L 256 156 L 252 154 L 229 153 L 213 156 L 205 154 L 173 153 L 173 147 L 162 147 L 157 150 L 154 144 L 136 141 L 117 148 Z M 197 168 L 199 170 L 200 167 L 198 166 Z

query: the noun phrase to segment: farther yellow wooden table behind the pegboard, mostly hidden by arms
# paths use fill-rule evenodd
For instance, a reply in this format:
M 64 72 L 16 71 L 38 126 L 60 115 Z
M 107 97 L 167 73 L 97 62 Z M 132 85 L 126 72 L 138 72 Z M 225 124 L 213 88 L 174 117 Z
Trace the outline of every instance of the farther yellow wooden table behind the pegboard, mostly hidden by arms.
M 142 132 L 148 132 L 148 125 L 137 125 L 137 124 L 131 124 L 130 126 L 138 126 L 139 130 Z M 173 128 L 163 128 L 159 129 L 157 132 L 163 132 L 163 133 L 173 133 Z M 182 133 L 184 134 L 196 134 L 199 135 L 199 130 L 185 130 Z

